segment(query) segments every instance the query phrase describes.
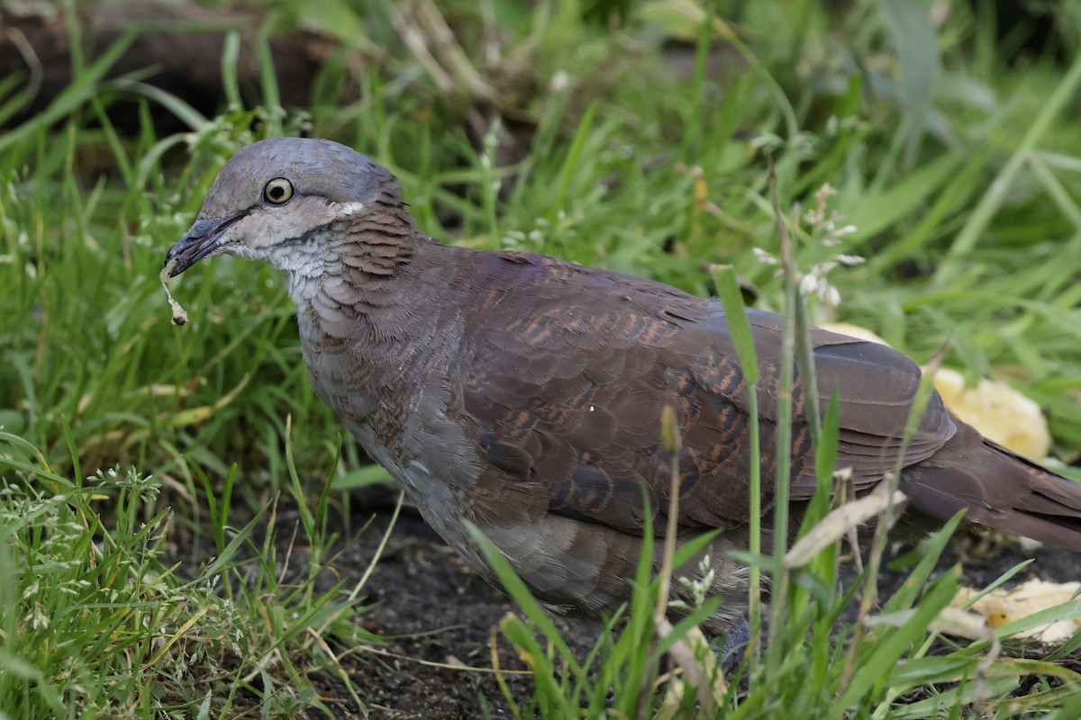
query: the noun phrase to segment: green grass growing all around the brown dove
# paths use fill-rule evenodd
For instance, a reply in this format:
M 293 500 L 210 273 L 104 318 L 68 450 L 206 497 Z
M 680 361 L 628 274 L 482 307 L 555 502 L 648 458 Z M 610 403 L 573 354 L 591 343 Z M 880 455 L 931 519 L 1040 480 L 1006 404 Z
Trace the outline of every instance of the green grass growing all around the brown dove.
M 715 289 L 708 266 L 730 264 L 757 307 L 792 308 L 761 257 L 779 255 L 770 153 L 796 262 L 818 268 L 840 297 L 836 308 L 828 293 L 809 298 L 813 322 L 855 322 L 921 362 L 946 342 L 946 365 L 1004 378 L 1044 408 L 1055 457 L 1081 453 L 1078 2 L 1059 9 L 1067 59 L 1017 64 L 987 13 L 966 6 L 951 5 L 939 27 L 922 3 L 900 0 L 839 14 L 810 2 L 720 3 L 719 17 L 699 23 L 698 5 L 659 0 L 610 27 L 603 2 L 443 3 L 481 90 L 470 90 L 457 55 L 418 59 L 397 39 L 396 3 L 369 4 L 357 13 L 324 3 L 305 18 L 374 58 L 359 74 L 348 52 L 332 58 L 306 109 L 272 107 L 264 55 L 266 107 L 240 105 L 227 62 L 233 105 L 202 118 L 131 79 L 104 80 L 117 45 L 76 63 L 39 120 L 0 134 L 8 717 L 233 717 L 253 706 L 288 716 L 309 704 L 329 712 L 307 673 L 338 670 L 311 638 L 355 642 L 346 626 L 362 594 L 316 589 L 336 540 L 326 511 L 347 504 L 342 488 L 381 474 L 362 468 L 350 444 L 338 461 L 341 429 L 310 392 L 272 272 L 217 259 L 186 274 L 173 288 L 191 313 L 184 328 L 170 326 L 157 280 L 217 168 L 268 135 L 303 128 L 388 165 L 437 237 L 550 253 L 699 295 Z M 295 8 L 268 6 L 276 30 L 299 23 Z M 492 37 L 497 60 L 483 44 Z M 664 59 L 673 38 L 693 58 L 685 76 Z M 0 83 L 0 118 L 18 92 Z M 494 101 L 476 103 L 484 93 Z M 136 137 L 108 121 L 118 94 L 139 100 Z M 157 105 L 190 132 L 159 137 L 149 123 Z M 470 113 L 483 107 L 508 120 L 478 126 Z M 499 165 L 508 134 L 520 152 Z M 826 184 L 836 194 L 805 217 Z M 842 254 L 867 261 L 827 264 Z M 717 277 L 732 289 L 731 275 Z M 302 508 L 312 551 L 288 583 L 273 571 L 271 533 L 256 532 L 279 498 Z M 162 548 L 182 530 L 217 559 L 166 563 Z M 929 540 L 927 557 L 944 542 Z M 774 623 L 742 702 L 735 690 L 718 699 L 731 717 L 949 716 L 977 692 L 1006 717 L 1020 706 L 1003 698 L 1029 673 L 1069 682 L 1023 705 L 1076 715 L 1076 679 L 1050 663 L 1000 661 L 977 691 L 989 639 L 927 654 L 937 635 L 926 627 L 951 595 L 952 571 L 931 582 L 931 561 L 917 562 L 904 597 L 838 630 L 849 598 L 835 593 L 836 549 L 787 573 L 772 549 L 755 567 L 775 587 L 788 578 L 780 595 L 805 610 Z M 585 663 L 516 594 L 545 643 L 515 621 L 504 626 L 535 661 L 537 694 L 522 714 L 599 711 L 610 692 L 628 717 L 664 702 L 641 687 L 676 639 L 654 635 L 645 574 L 636 586 L 627 629 L 602 633 Z M 816 693 L 797 692 L 809 682 Z M 693 714 L 693 692 L 672 701 L 678 717 Z

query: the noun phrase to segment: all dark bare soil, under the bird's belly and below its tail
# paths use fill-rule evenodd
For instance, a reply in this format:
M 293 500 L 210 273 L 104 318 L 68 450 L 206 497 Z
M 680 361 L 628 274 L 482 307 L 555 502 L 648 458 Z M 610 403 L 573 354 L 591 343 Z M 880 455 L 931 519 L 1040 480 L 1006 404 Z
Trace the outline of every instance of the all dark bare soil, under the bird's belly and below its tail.
M 350 543 L 335 562 L 347 585 L 361 578 L 389 522 L 396 493 L 375 493 L 353 508 L 351 525 L 361 527 L 374 515 L 372 525 Z M 288 536 L 288 532 L 279 536 Z M 939 563 L 945 569 L 960 561 L 964 579 L 975 586 L 986 585 L 1006 569 L 1029 558 L 1036 561 L 1014 582 L 1030 578 L 1069 581 L 1081 578 L 1081 558 L 1076 554 L 1044 546 L 1025 551 L 1015 542 L 996 546 L 989 554 L 971 536 L 955 541 Z M 977 552 L 978 551 L 978 552 Z M 850 578 L 854 570 L 844 572 Z M 889 597 L 904 580 L 902 574 L 884 574 L 881 593 Z M 383 558 L 365 589 L 375 603 L 364 615 L 365 629 L 386 638 L 377 651 L 361 651 L 344 661 L 347 671 L 364 693 L 371 718 L 432 718 L 452 720 L 510 717 L 506 699 L 491 673 L 456 670 L 426 663 L 491 667 L 493 628 L 512 603 L 468 567 L 432 532 L 415 510 L 403 508 Z M 597 639 L 596 624 L 576 619 L 558 619 L 572 649 L 584 656 Z M 494 631 L 504 669 L 524 669 L 509 643 Z M 360 708 L 336 680 L 312 678 L 320 697 L 339 717 L 360 717 Z M 528 704 L 532 680 L 524 675 L 507 676 L 515 702 Z M 309 712 L 308 717 L 322 717 Z

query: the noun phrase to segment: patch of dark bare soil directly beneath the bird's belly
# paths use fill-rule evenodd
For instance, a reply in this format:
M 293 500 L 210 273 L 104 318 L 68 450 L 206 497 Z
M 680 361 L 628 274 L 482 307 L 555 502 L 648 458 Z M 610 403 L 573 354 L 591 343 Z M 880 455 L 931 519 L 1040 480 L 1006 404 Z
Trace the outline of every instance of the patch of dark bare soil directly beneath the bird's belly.
M 359 578 L 389 517 L 389 512 L 381 511 L 337 566 L 356 568 Z M 387 655 L 358 655 L 349 673 L 365 692 L 370 717 L 479 718 L 482 703 L 492 717 L 510 717 L 493 674 L 424 663 L 490 668 L 493 628 L 515 608 L 462 562 L 415 511 L 403 511 L 399 517 L 368 587 L 378 606 L 366 615 L 364 625 L 387 638 L 383 647 Z M 597 638 L 596 624 L 587 621 L 559 619 L 558 626 L 582 655 Z M 501 667 L 524 670 L 525 665 L 497 629 L 495 637 Z M 533 694 L 532 679 L 524 675 L 505 678 L 515 701 L 528 703 Z

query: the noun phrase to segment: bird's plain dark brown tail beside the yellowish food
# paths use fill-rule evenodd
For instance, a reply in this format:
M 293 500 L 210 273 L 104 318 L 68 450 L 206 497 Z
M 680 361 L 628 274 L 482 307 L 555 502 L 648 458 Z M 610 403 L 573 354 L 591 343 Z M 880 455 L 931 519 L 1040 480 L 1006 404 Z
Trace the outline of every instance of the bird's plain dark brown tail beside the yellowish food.
M 912 508 L 986 525 L 1081 552 L 1081 484 L 1056 475 L 958 422 L 931 458 L 906 467 L 900 489 Z

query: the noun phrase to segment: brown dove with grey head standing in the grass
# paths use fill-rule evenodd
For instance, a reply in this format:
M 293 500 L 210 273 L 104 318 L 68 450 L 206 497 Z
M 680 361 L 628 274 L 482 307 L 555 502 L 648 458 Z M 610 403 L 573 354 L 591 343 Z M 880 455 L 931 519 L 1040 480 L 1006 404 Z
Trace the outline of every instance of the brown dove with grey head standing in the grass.
M 440 243 L 389 171 L 315 138 L 238 150 L 163 275 L 216 255 L 283 272 L 316 394 L 479 574 L 498 586 L 470 524 L 549 610 L 614 612 L 645 528 L 665 533 L 678 466 L 679 542 L 720 529 L 709 592 L 722 602 L 704 629 L 740 623 L 749 570 L 728 551 L 748 547 L 752 418 L 721 302 L 544 255 Z M 747 320 L 761 473 L 772 478 L 783 318 L 749 309 Z M 825 405 L 836 389 L 837 465 L 857 492 L 899 465 L 908 513 L 945 521 L 963 510 L 964 522 L 1081 551 L 1081 485 L 985 439 L 937 393 L 906 445 L 917 364 L 823 329 L 811 340 L 816 386 L 798 358 L 795 370 L 793 506 L 816 489 L 809 395 Z M 678 451 L 662 438 L 666 403 Z M 760 505 L 763 542 L 790 532 L 772 527 L 772 494 Z

